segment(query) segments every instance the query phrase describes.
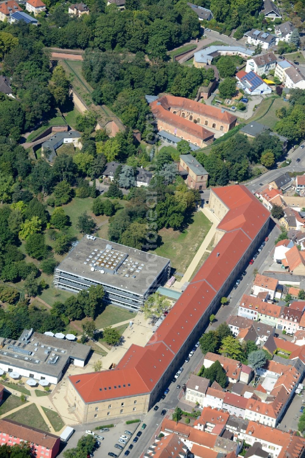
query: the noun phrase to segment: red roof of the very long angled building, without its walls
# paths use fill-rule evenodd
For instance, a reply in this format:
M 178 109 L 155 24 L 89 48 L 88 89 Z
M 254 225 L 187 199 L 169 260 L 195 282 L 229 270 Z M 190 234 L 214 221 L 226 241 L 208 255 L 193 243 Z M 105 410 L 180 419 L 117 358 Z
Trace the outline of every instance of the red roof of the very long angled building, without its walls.
M 223 235 L 145 347 L 132 345 L 114 370 L 69 377 L 84 402 L 150 393 L 270 217 L 268 210 L 243 185 L 212 192 L 230 210 L 222 227 L 230 232 Z M 237 213 L 240 213 L 238 218 Z

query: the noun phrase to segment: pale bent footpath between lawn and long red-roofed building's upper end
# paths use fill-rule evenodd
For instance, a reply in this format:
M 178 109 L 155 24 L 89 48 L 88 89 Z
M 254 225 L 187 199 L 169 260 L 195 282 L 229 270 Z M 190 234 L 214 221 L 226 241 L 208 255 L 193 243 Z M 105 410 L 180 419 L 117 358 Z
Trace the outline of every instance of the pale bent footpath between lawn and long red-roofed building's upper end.
M 219 224 L 219 219 L 216 218 L 216 216 L 214 215 L 214 213 L 211 212 L 209 207 L 200 208 L 200 211 L 210 220 L 210 222 L 212 223 L 212 227 L 210 228 L 208 234 L 206 234 L 206 236 L 205 236 L 202 244 L 200 245 L 197 253 L 193 257 L 193 261 L 187 267 L 186 273 L 183 275 L 183 277 L 180 280 L 180 282 L 176 281 L 173 284 L 173 289 L 182 289 L 183 285 L 186 282 L 190 281 L 190 278 L 192 277 L 196 267 L 198 266 L 198 264 L 200 262 L 200 259 L 202 258 L 204 252 L 205 251 L 208 251 L 209 253 L 211 252 L 211 251 L 207 250 L 207 248 L 208 248 L 209 244 L 211 243 L 211 241 L 213 240 L 216 228 L 217 228 L 217 226 Z

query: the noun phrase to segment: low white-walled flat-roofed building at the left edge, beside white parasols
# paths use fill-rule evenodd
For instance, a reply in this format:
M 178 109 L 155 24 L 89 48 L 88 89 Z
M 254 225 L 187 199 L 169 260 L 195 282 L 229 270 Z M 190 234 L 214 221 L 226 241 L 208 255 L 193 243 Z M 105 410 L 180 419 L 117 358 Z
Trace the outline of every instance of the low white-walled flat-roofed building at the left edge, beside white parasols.
M 0 337 L 0 369 L 54 385 L 70 364 L 84 367 L 89 353 L 90 347 L 66 340 L 62 333 L 52 337 L 25 329 L 18 340 Z

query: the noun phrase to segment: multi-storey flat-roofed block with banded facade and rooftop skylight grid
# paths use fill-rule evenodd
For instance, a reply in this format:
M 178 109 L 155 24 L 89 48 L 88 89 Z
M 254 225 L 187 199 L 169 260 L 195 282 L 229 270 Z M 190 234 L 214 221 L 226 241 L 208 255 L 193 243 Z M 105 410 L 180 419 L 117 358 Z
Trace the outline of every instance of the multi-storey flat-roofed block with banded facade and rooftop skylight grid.
M 100 284 L 105 300 L 138 310 L 170 269 L 169 259 L 85 235 L 56 267 L 54 284 L 74 292 Z

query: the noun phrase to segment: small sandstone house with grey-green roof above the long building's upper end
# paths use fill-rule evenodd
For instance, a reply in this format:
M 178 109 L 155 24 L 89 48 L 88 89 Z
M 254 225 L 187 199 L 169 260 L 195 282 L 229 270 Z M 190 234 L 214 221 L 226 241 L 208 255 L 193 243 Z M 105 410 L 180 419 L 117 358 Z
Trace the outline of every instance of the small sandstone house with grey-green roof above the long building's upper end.
M 207 188 L 209 174 L 192 154 L 180 155 L 178 171 L 186 175 L 184 181 L 189 188 L 199 191 Z

